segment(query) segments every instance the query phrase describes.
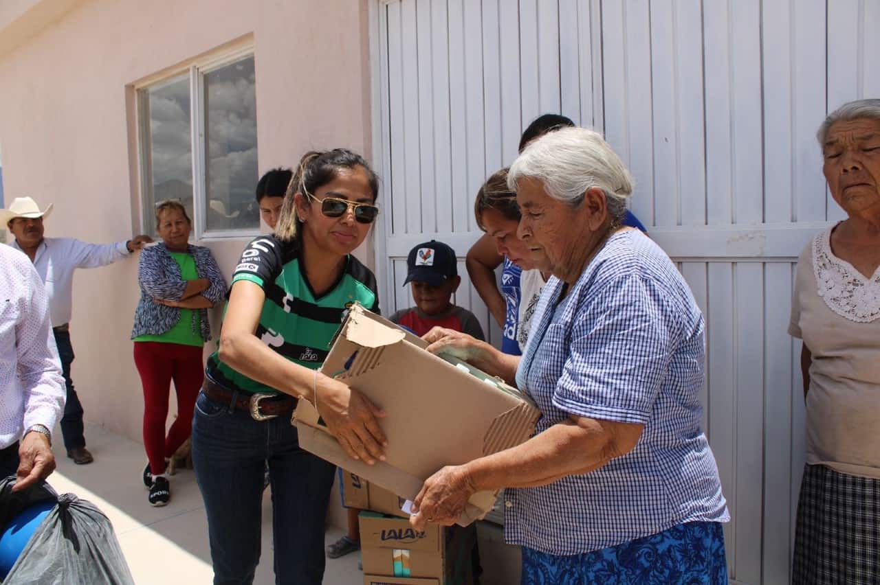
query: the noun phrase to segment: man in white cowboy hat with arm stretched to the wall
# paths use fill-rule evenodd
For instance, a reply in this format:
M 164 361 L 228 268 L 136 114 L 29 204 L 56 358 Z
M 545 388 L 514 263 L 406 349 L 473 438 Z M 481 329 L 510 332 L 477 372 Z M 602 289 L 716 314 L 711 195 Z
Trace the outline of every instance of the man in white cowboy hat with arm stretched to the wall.
M 70 379 L 70 363 L 73 347 L 70 345 L 70 314 L 73 298 L 73 271 L 77 268 L 97 268 L 113 264 L 136 249 L 152 242 L 149 235 L 136 235 L 128 242 L 91 244 L 73 238 L 43 237 L 43 220 L 52 213 L 52 204 L 40 210 L 30 197 L 18 197 L 9 209 L 0 209 L 0 221 L 9 227 L 15 242 L 12 248 L 20 249 L 31 258 L 40 278 L 46 285 L 49 313 L 58 354 L 61 357 L 64 382 L 67 384 L 67 402 L 61 419 L 62 436 L 67 456 L 74 463 L 92 463 L 92 453 L 85 448 L 83 433 L 83 406 Z M 0 224 L 2 225 L 2 224 Z

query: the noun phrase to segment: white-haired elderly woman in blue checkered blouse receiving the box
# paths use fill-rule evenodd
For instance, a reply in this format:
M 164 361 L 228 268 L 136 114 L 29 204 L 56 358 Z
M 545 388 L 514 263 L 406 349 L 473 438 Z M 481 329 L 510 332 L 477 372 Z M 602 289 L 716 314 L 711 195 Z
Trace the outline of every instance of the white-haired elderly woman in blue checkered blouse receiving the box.
M 511 165 L 517 235 L 553 277 L 521 358 L 448 329 L 429 350 L 532 397 L 535 437 L 447 466 L 414 501 L 416 528 L 453 523 L 476 491 L 508 488 L 505 537 L 523 583 L 727 583 L 730 519 L 698 394 L 704 321 L 655 242 L 620 227 L 632 179 L 602 137 L 566 128 Z

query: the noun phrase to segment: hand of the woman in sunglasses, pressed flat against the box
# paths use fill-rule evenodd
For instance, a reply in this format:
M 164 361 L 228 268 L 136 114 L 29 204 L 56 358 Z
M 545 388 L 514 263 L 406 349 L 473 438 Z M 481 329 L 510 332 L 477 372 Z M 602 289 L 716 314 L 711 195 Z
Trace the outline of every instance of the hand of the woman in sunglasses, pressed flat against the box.
M 315 401 L 319 415 L 348 456 L 373 465 L 385 461 L 388 440 L 377 418 L 385 411 L 340 381 L 318 374 Z

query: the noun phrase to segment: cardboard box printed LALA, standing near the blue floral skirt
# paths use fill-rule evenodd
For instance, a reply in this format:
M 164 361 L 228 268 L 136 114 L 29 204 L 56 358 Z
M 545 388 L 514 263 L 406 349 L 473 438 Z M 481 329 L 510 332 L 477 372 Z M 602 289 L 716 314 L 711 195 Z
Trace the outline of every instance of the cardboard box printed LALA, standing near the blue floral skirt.
M 393 578 L 436 578 L 444 585 L 473 583 L 474 526 L 429 524 L 415 531 L 404 518 L 362 512 L 364 574 Z

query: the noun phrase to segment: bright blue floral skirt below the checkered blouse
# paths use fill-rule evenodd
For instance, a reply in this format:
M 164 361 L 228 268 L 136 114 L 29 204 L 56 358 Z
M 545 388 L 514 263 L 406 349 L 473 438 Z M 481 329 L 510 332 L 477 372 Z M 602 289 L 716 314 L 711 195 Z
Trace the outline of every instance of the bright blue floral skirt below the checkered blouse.
M 523 547 L 523 585 L 727 585 L 718 522 L 689 522 L 592 553 L 556 556 Z

